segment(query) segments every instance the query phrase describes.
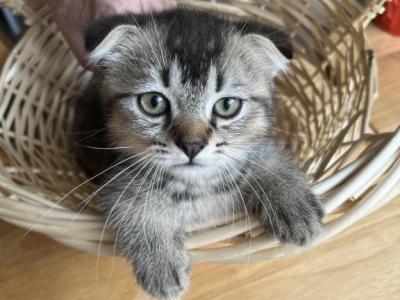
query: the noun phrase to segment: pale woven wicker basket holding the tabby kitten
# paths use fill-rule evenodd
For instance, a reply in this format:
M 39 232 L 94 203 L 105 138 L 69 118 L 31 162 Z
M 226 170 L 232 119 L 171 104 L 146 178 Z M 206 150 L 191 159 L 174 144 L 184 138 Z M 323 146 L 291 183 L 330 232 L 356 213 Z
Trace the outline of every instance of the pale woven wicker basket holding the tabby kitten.
M 369 130 L 377 87 L 364 28 L 384 0 L 178 2 L 290 29 L 296 58 L 278 80 L 277 138 L 298 155 L 326 199 L 328 215 L 315 245 L 400 192 L 400 130 Z M 77 64 L 46 7 L 32 9 L 22 0 L 6 5 L 30 28 L 0 78 L 0 218 L 77 249 L 114 253 L 95 201 L 85 201 L 94 187 L 67 151 L 74 98 L 91 74 Z M 187 239 L 195 261 L 249 262 L 303 250 L 280 245 L 256 220 L 205 227 Z

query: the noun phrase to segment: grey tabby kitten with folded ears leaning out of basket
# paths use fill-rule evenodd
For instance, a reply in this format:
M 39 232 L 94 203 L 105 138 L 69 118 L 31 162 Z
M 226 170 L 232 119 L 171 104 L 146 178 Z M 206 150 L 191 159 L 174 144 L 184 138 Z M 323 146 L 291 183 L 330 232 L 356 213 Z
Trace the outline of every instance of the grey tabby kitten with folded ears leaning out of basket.
M 174 9 L 100 20 L 86 41 L 96 75 L 75 151 L 89 175 L 109 168 L 100 205 L 147 292 L 185 291 L 185 232 L 226 214 L 252 211 L 285 243 L 317 236 L 321 202 L 268 137 L 274 77 L 292 57 L 284 33 Z

